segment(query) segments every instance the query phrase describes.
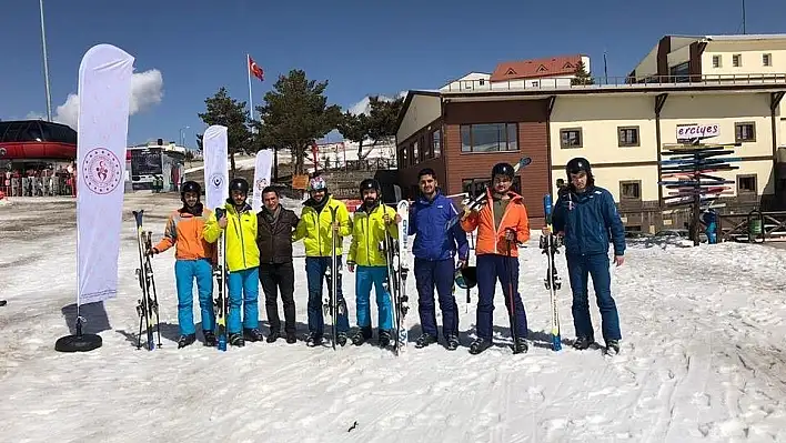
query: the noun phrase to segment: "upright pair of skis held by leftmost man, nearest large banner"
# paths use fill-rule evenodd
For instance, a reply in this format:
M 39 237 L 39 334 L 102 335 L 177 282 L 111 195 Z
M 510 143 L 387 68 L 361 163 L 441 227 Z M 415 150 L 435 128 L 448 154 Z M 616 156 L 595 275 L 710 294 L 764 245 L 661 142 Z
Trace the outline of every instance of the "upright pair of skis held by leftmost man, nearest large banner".
M 139 314 L 139 335 L 137 336 L 137 349 L 142 349 L 142 332 L 145 332 L 145 344 L 148 351 L 155 349 L 153 331 L 158 333 L 158 348 L 161 348 L 161 321 L 159 320 L 159 299 L 155 293 L 155 280 L 153 278 L 153 265 L 150 262 L 148 251 L 152 248 L 151 232 L 144 231 L 144 210 L 133 211 L 137 221 L 137 245 L 139 248 L 139 268 L 137 278 L 139 286 L 142 289 L 142 296 L 137 304 Z

